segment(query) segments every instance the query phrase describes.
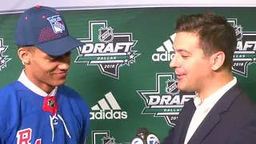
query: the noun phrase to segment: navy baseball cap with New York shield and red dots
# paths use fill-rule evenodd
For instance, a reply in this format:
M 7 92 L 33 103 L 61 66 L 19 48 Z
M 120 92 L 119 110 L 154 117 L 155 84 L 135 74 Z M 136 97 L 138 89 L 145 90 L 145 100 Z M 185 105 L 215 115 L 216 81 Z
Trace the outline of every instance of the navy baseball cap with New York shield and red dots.
M 82 42 L 70 36 L 62 15 L 47 6 L 34 6 L 20 15 L 15 30 L 15 44 L 36 46 L 53 56 L 82 46 Z

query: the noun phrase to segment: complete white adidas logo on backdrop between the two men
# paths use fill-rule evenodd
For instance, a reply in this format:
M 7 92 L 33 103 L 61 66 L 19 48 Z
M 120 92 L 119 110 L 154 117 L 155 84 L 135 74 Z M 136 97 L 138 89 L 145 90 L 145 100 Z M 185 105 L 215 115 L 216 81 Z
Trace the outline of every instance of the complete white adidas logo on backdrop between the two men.
M 105 99 L 106 98 L 106 99 Z M 90 119 L 126 119 L 127 112 L 122 111 L 111 92 L 105 94 L 105 98 L 91 107 Z M 99 107 L 100 106 L 100 107 Z M 111 107 L 111 108 L 110 108 Z

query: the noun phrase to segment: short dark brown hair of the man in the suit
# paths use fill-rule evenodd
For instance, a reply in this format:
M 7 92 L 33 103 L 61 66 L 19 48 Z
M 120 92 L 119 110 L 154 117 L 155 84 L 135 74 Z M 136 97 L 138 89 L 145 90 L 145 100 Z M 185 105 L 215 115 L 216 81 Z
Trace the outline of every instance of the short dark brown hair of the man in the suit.
M 226 58 L 223 66 L 232 70 L 234 51 L 237 47 L 237 37 L 234 27 L 226 18 L 217 14 L 182 15 L 177 18 L 176 32 L 191 32 L 198 34 L 199 46 L 206 56 L 222 51 Z

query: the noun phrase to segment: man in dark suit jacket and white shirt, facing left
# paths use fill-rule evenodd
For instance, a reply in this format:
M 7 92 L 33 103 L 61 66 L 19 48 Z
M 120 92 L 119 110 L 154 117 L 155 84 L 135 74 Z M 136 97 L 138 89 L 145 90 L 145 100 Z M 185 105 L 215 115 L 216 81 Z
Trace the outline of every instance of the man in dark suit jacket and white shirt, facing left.
M 253 144 L 256 106 L 232 75 L 237 46 L 234 28 L 221 16 L 177 19 L 170 67 L 178 89 L 196 91 L 162 144 Z

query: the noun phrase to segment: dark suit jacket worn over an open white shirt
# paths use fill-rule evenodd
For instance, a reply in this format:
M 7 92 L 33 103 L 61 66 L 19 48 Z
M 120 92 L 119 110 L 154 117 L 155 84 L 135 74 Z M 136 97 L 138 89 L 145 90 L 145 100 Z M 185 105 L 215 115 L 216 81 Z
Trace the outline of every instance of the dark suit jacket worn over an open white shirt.
M 194 99 L 185 103 L 178 121 L 162 144 L 184 144 L 194 115 Z M 188 144 L 256 144 L 256 106 L 238 84 L 219 99 Z

